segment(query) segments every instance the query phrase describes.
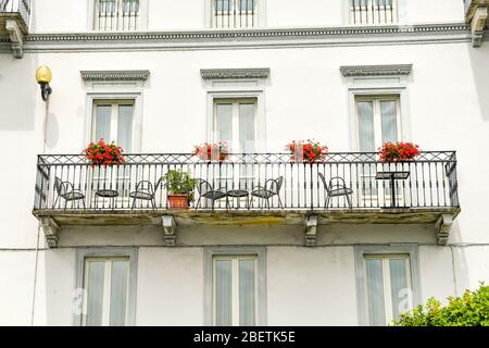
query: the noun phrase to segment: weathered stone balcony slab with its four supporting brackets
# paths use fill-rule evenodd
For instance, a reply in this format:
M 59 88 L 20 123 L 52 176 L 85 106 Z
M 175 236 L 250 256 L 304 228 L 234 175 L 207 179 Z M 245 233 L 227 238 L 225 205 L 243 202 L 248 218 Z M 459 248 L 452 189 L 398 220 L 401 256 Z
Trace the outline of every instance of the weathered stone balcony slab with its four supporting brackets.
M 167 245 L 176 244 L 177 226 L 302 225 L 305 245 L 314 246 L 316 227 L 334 224 L 431 224 L 439 245 L 446 245 L 460 208 L 331 209 L 331 210 L 34 210 L 50 247 L 57 247 L 64 226 L 160 225 Z

